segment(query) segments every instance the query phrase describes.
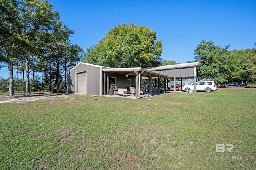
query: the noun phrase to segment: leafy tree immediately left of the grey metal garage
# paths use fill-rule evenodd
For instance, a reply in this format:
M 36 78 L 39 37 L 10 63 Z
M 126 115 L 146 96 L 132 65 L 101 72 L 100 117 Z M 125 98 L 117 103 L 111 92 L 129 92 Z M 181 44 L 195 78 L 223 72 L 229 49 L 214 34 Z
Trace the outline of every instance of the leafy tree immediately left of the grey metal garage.
M 46 83 L 56 87 L 58 82 L 65 79 L 66 73 L 77 61 L 82 58 L 83 50 L 78 45 L 73 45 L 69 37 L 74 30 L 58 23 L 52 32 L 44 32 L 40 35 L 40 48 L 38 49 L 38 60 L 40 71 L 44 73 Z

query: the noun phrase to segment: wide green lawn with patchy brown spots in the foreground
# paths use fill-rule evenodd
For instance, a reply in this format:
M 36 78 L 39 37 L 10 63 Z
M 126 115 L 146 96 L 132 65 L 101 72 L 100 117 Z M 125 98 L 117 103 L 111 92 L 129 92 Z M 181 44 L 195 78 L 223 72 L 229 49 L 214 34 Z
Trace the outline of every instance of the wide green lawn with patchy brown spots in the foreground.
M 256 169 L 256 88 L 0 104 L 0 169 Z

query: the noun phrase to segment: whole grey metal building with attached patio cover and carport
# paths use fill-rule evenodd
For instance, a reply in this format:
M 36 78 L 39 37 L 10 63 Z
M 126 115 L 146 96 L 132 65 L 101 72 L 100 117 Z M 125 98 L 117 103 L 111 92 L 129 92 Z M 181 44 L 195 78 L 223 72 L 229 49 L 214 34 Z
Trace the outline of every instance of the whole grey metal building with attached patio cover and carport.
M 150 82 L 153 77 L 156 77 L 159 82 L 158 87 L 160 87 L 161 79 L 164 79 L 164 85 L 166 85 L 168 78 L 174 78 L 175 80 L 176 77 L 193 77 L 196 80 L 199 70 L 199 62 L 160 66 L 150 69 L 141 69 L 139 67 L 109 68 L 80 62 L 67 73 L 67 92 L 88 95 L 110 95 L 112 93 L 110 89 L 129 87 L 136 87 L 138 89 L 142 87 L 142 76 L 148 77 Z M 166 87 L 164 87 L 164 91 L 166 91 Z M 140 94 L 137 97 L 140 98 Z

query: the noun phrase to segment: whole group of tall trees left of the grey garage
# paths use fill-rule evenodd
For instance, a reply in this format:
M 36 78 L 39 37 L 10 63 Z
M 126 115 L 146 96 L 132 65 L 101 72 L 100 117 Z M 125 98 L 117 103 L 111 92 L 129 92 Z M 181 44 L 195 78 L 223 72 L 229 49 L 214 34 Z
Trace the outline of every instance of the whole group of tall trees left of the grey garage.
M 0 62 L 8 67 L 10 96 L 15 95 L 14 69 L 22 74 L 16 85 L 26 80 L 26 95 L 31 85 L 39 88 L 36 73 L 41 73 L 41 90 L 52 91 L 83 55 L 69 40 L 74 30 L 62 23 L 47 0 L 0 0 L 0 28 Z

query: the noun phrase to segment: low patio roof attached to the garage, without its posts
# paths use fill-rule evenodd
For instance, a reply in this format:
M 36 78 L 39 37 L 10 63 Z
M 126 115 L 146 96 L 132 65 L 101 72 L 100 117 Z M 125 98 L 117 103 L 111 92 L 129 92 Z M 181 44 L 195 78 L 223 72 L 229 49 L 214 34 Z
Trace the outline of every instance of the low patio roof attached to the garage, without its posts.
M 116 73 L 116 74 L 124 74 L 124 75 L 133 75 L 136 76 L 137 73 L 141 74 L 141 76 L 152 76 L 152 77 L 165 77 L 168 78 L 168 75 L 157 73 L 155 71 L 150 71 L 146 69 L 141 69 L 140 67 L 134 68 L 109 68 L 102 69 L 104 72 Z

